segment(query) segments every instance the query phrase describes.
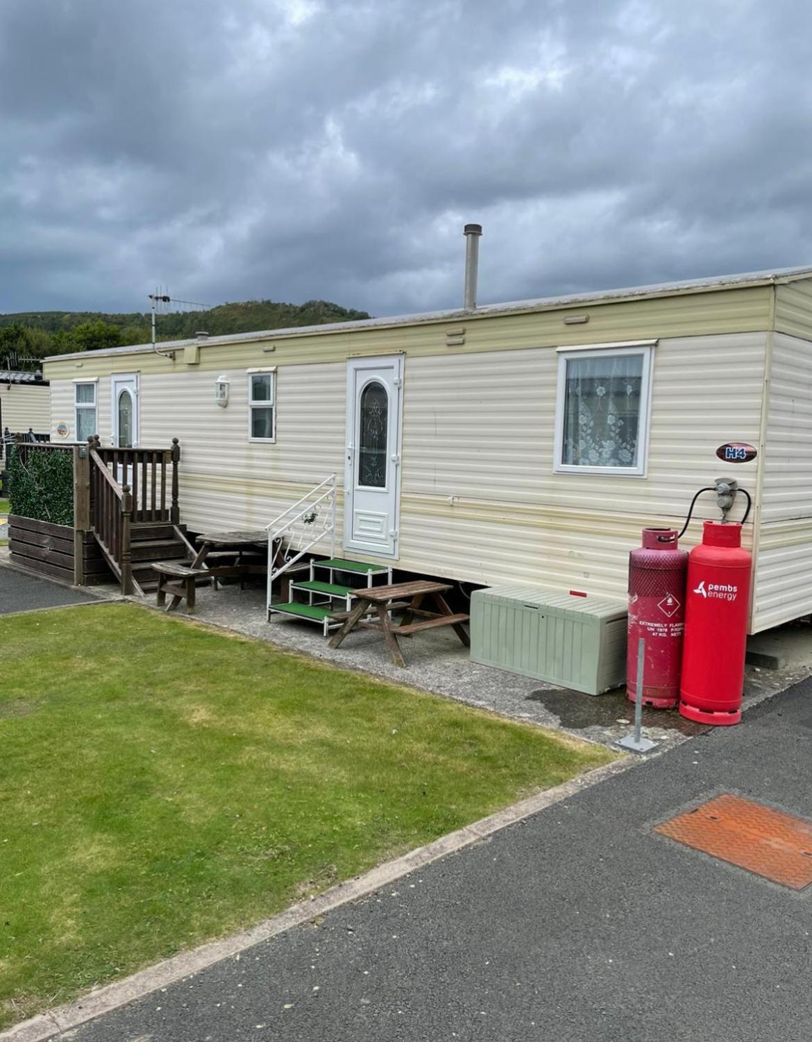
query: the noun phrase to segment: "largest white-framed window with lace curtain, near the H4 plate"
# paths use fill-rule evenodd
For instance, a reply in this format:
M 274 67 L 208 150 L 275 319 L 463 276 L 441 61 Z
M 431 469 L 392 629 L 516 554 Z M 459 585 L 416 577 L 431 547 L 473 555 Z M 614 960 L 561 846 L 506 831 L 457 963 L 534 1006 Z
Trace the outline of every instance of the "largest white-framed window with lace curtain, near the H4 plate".
M 553 470 L 645 475 L 654 346 L 559 348 Z

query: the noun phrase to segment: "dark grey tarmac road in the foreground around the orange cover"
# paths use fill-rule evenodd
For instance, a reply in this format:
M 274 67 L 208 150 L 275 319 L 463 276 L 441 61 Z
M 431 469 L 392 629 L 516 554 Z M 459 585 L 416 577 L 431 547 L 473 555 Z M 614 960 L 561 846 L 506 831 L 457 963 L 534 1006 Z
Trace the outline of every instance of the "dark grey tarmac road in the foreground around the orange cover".
M 721 791 L 812 817 L 810 764 L 812 680 L 70 1037 L 801 1042 L 812 893 L 653 825 Z

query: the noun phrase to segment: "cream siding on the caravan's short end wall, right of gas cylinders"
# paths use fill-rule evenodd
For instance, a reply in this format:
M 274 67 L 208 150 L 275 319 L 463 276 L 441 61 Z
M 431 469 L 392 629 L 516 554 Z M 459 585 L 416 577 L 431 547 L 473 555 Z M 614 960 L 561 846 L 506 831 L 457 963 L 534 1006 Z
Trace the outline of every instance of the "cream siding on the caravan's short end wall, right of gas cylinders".
M 782 289 L 787 289 L 783 287 Z M 777 332 L 772 364 L 754 626 L 812 612 L 812 343 Z

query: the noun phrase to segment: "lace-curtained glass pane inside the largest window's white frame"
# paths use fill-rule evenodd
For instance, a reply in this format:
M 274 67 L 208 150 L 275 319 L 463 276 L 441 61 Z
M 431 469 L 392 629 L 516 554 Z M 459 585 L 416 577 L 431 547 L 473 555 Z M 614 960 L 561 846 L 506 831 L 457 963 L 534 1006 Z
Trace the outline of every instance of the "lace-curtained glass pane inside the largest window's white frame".
M 563 464 L 637 467 L 643 356 L 567 358 Z

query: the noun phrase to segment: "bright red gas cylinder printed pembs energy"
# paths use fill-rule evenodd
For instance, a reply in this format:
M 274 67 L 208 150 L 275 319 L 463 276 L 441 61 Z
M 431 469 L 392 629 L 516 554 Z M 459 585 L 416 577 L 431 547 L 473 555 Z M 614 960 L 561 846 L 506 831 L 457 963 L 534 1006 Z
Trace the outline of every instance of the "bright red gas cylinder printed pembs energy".
M 741 525 L 706 521 L 688 559 L 680 713 L 689 720 L 741 720 L 752 568 Z

